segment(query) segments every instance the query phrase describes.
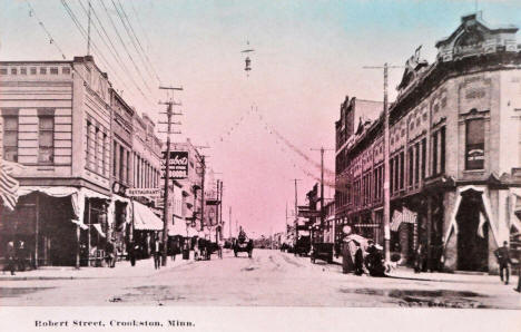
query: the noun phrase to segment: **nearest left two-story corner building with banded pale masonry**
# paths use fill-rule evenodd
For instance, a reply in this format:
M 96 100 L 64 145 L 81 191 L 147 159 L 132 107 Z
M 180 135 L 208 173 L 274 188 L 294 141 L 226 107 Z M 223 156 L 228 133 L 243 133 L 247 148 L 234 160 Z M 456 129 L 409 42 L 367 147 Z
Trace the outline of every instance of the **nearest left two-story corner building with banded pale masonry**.
M 2 61 L 0 86 L 0 155 L 24 166 L 13 174 L 21 185 L 16 211 L 1 211 L 2 241 L 23 242 L 37 266 L 79 264 L 89 250 L 80 244 L 107 228 L 107 74 L 91 57 Z M 86 224 L 99 227 L 88 232 Z

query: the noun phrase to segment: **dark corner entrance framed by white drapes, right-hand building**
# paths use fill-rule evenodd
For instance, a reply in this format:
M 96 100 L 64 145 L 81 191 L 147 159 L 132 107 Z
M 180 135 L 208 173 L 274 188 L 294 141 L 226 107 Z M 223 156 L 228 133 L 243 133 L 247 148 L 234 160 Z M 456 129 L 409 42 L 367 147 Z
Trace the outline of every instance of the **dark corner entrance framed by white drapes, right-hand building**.
M 478 232 L 480 214 L 484 214 L 483 211 L 481 193 L 468 191 L 461 194 L 461 205 L 456 215 L 458 270 L 460 271 L 486 272 L 489 270 L 488 223 L 482 225 L 482 234 Z

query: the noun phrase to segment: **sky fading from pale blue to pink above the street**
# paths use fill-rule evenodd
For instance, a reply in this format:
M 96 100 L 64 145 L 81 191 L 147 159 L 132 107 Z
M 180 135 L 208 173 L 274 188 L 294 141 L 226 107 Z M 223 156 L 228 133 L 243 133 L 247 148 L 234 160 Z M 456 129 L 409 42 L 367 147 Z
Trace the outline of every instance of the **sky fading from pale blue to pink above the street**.
M 68 59 L 85 55 L 81 38 L 60 1 L 30 1 Z M 121 37 L 132 52 L 112 3 L 92 7 L 111 36 L 129 68 L 128 57 L 119 45 L 108 16 L 119 25 Z M 79 21 L 87 27 L 79 3 L 68 1 Z M 116 1 L 117 3 L 117 1 Z M 256 114 L 244 117 L 252 105 L 258 107 L 266 123 L 283 134 L 316 163 L 320 153 L 311 148 L 334 148 L 334 121 L 345 96 L 382 100 L 382 74 L 363 66 L 387 61 L 402 65 L 419 45 L 432 61 L 436 40 L 450 35 L 460 17 L 474 10 L 474 1 L 121 1 L 144 49 L 165 85 L 183 85 L 179 110 L 183 135 L 197 145 L 209 145 L 204 154 L 215 172 L 223 173 L 224 212 L 233 206 L 233 221 L 246 231 L 268 234 L 284 230 L 286 202 L 294 204 L 298 183 L 299 203 L 315 180 L 301 167 L 320 176 L 320 169 L 304 160 L 269 135 Z M 2 60 L 51 60 L 61 55 L 29 16 L 26 1 L 2 1 L 0 10 L 0 58 Z M 483 18 L 492 23 L 521 25 L 521 4 L 511 1 L 480 1 Z M 118 67 L 92 31 L 92 39 L 109 64 L 97 51 L 95 59 L 106 70 L 114 86 L 138 111 L 159 119 L 164 92 L 154 75 L 145 74 L 151 87 L 145 100 L 132 87 L 128 75 Z M 250 55 L 249 77 L 240 50 L 246 41 L 256 49 Z M 139 56 L 137 65 L 147 71 Z M 150 71 L 150 70 L 148 70 Z M 151 74 L 151 72 L 150 72 Z M 401 70 L 390 76 L 391 98 Z M 121 79 L 118 79 L 120 77 Z M 127 86 L 127 88 L 124 88 Z M 146 90 L 142 85 L 141 88 Z M 177 98 L 176 98 L 177 99 Z M 223 138 L 223 141 L 220 140 Z M 285 152 L 281 147 L 285 148 Z M 326 167 L 334 169 L 334 152 L 325 154 Z M 294 166 L 297 165 L 296 167 Z M 325 189 L 333 197 L 333 189 Z M 227 231 L 227 228 L 226 228 Z

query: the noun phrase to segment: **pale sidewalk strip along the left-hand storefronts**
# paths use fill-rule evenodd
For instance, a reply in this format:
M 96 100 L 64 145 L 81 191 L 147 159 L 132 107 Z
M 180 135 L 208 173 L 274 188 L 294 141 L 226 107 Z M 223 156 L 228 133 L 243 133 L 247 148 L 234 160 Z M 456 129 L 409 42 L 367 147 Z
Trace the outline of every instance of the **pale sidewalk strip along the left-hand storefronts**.
M 191 257 L 190 257 L 191 258 Z M 72 266 L 42 266 L 37 270 L 19 272 L 11 275 L 9 271 L 0 274 L 2 281 L 29 281 L 29 280 L 73 280 L 73 279 L 109 279 L 124 276 L 151 276 L 161 271 L 174 268 L 193 262 L 194 260 L 184 261 L 180 255 L 176 255 L 176 260 L 167 258 L 167 266 L 161 266 L 159 270 L 154 268 L 154 258 L 136 261 L 136 266 L 130 265 L 130 261 L 119 261 L 116 267 L 88 267 L 82 266 L 79 270 Z

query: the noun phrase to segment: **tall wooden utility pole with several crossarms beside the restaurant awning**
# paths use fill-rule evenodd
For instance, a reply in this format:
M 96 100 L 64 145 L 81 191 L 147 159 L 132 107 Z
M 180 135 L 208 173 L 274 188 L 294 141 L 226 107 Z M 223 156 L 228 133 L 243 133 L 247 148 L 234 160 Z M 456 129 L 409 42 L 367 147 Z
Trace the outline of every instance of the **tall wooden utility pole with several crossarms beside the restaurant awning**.
M 173 88 L 173 87 L 159 87 L 159 89 L 166 89 L 166 90 L 179 90 L 181 91 L 183 88 Z M 169 101 L 167 102 L 159 102 L 163 105 L 167 105 L 167 150 L 166 150 L 166 156 L 165 156 L 165 203 L 164 203 L 164 209 L 163 209 L 163 266 L 166 266 L 167 264 L 167 245 L 168 245 L 168 226 L 170 224 L 170 202 L 169 202 L 169 184 L 170 184 L 170 135 L 171 134 L 180 134 L 178 133 L 173 133 L 171 131 L 171 126 L 173 125 L 180 125 L 180 123 L 174 124 L 171 121 L 171 117 L 175 115 L 173 110 L 173 106 L 176 105 L 170 98 Z

